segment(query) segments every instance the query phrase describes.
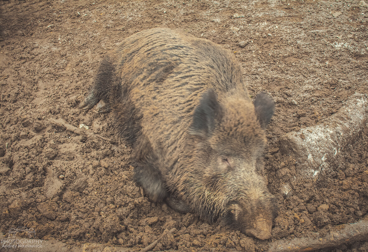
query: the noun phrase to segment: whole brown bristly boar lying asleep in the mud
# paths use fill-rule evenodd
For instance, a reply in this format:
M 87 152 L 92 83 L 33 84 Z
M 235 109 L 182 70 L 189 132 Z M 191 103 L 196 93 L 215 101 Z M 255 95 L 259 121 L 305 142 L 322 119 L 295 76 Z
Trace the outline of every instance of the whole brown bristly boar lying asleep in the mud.
M 261 93 L 252 104 L 233 55 L 170 29 L 138 32 L 103 59 L 84 105 L 100 100 L 134 145 L 151 200 L 270 237 L 277 210 L 262 153 L 274 103 Z

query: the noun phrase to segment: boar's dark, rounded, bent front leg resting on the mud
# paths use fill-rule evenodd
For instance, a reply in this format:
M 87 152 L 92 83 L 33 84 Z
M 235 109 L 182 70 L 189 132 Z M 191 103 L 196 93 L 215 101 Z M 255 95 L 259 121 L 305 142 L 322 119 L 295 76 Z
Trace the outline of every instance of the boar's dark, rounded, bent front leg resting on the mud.
M 137 183 L 143 187 L 145 195 L 154 202 L 160 202 L 167 197 L 161 176 L 161 172 L 150 165 L 138 165 L 134 168 Z

